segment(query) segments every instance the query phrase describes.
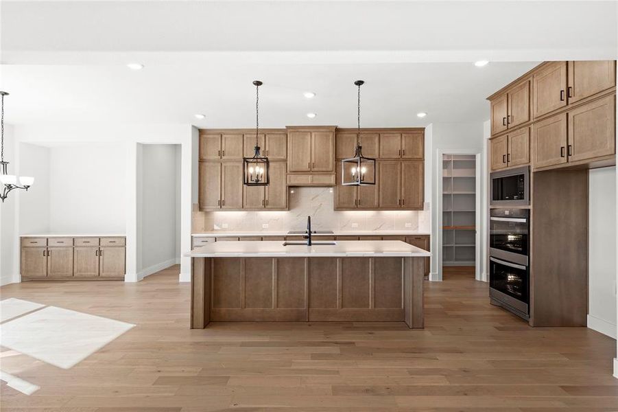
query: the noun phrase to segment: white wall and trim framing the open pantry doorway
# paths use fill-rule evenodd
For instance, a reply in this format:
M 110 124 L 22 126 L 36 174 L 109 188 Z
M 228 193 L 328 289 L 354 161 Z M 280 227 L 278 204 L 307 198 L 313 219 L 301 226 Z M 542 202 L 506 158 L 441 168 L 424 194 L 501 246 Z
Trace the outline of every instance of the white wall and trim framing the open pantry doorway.
M 480 199 L 479 205 L 479 224 L 477 233 L 479 234 L 479 243 L 477 244 L 477 259 L 478 268 L 477 279 L 486 280 L 486 245 L 484 236 L 486 223 L 484 219 L 485 209 L 487 207 L 486 185 L 482 182 L 487 179 L 486 168 L 486 142 L 484 137 L 483 123 L 440 123 L 431 124 L 426 129 L 425 137 L 425 170 L 427 176 L 425 178 L 425 199 L 431 199 L 431 273 L 429 279 L 442 280 L 442 228 L 440 227 L 442 216 L 440 203 L 442 201 L 442 154 L 479 154 L 477 162 L 477 171 L 479 172 L 481 185 L 477 192 L 477 198 Z

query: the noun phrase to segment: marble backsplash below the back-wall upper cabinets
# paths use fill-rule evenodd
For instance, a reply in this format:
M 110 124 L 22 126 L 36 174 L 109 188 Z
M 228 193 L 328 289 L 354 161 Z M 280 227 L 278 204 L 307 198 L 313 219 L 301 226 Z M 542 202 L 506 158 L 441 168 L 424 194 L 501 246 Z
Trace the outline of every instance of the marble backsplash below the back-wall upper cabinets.
M 411 230 L 429 232 L 431 212 L 335 211 L 332 187 L 289 188 L 289 211 L 193 211 L 193 233 L 202 231 Z

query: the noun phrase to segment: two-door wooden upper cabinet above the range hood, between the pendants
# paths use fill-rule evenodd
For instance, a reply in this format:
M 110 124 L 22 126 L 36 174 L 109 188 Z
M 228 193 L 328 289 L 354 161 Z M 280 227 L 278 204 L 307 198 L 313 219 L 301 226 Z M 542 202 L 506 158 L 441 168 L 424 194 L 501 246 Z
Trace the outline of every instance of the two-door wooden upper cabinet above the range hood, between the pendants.
M 287 172 L 335 172 L 335 127 L 288 128 Z

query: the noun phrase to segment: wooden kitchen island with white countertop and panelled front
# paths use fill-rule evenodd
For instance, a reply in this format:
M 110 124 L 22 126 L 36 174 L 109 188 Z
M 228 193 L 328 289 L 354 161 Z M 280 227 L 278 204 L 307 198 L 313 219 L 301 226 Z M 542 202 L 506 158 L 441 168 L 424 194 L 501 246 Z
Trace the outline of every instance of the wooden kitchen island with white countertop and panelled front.
M 399 240 L 193 249 L 191 328 L 211 321 L 403 321 L 423 328 L 423 258 Z

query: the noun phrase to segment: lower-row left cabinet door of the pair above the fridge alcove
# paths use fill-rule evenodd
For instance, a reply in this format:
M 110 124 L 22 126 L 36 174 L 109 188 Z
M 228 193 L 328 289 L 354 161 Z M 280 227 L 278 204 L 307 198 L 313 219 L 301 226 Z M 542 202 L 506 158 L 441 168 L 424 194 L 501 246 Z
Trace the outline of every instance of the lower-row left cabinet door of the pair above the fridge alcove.
M 535 168 L 567 163 L 567 113 L 532 125 L 532 165 Z

